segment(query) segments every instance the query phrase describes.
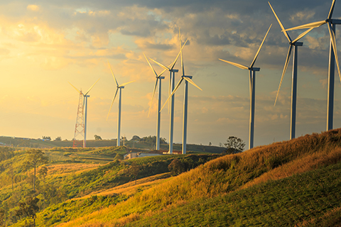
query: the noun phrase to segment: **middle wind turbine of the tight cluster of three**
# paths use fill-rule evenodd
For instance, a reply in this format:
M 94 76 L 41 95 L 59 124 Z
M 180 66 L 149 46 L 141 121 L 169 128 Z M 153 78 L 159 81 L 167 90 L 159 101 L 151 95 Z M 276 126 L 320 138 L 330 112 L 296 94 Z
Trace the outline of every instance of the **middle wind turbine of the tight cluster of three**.
M 188 39 L 185 41 L 185 43 L 183 44 L 183 47 L 181 48 L 180 46 L 180 52 L 181 50 L 183 50 L 183 48 L 185 47 L 186 43 L 187 43 Z M 169 75 L 169 89 L 168 89 L 168 95 L 171 94 L 171 92 L 174 91 L 174 87 L 175 87 L 175 72 L 179 72 L 179 70 L 174 70 L 173 67 L 175 66 L 175 63 L 178 61 L 178 58 L 180 56 L 180 52 L 178 53 L 178 56 L 176 56 L 174 62 L 169 65 L 168 67 L 166 67 L 166 65 L 161 64 L 160 62 L 157 62 L 156 60 L 151 59 L 153 62 L 155 62 L 156 64 L 160 65 L 161 67 L 163 67 L 163 72 L 165 70 L 168 70 L 170 75 Z M 161 74 L 163 73 L 161 72 Z M 156 85 L 154 87 L 154 92 L 156 89 Z M 160 92 L 161 93 L 161 92 Z M 172 96 L 171 99 L 171 103 L 170 103 L 170 120 L 169 120 L 169 153 L 172 154 L 173 153 L 173 128 L 174 128 L 174 102 L 175 102 L 175 96 Z M 161 99 L 159 99 L 161 100 Z M 153 98 L 152 100 L 153 101 Z M 149 109 L 150 111 L 150 109 Z M 161 110 L 159 110 L 158 112 L 160 113 Z

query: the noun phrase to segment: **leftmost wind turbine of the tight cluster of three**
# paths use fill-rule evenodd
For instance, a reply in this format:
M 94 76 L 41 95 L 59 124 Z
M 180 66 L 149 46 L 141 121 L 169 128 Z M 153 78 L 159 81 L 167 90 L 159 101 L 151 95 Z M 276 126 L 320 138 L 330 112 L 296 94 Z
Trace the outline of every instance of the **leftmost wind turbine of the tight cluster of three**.
M 165 72 L 166 70 L 163 70 L 159 75 L 155 72 L 153 66 L 151 66 L 151 63 L 148 61 L 146 55 L 144 54 L 144 57 L 146 58 L 148 65 L 151 67 L 151 70 L 153 70 L 155 76 L 156 76 L 156 82 L 155 82 L 155 86 L 154 86 L 154 90 L 153 90 L 153 96 L 151 96 L 151 106 L 153 104 L 153 99 L 154 99 L 154 95 L 156 92 L 156 87 L 158 87 L 158 114 L 157 114 L 157 118 L 156 118 L 156 150 L 160 150 L 160 121 L 161 121 L 161 80 L 165 79 L 165 77 L 161 77 L 161 75 L 163 74 L 163 72 Z M 148 111 L 148 117 L 149 114 L 151 113 L 151 106 L 149 107 L 149 111 Z

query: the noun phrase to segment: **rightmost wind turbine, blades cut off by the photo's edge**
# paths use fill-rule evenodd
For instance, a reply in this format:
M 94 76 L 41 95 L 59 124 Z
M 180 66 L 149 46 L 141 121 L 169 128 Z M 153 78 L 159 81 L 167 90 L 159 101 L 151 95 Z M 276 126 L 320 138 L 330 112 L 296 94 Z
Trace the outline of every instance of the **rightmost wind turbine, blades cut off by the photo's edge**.
M 335 38 L 335 27 L 337 24 L 341 24 L 341 20 L 332 19 L 332 13 L 335 7 L 335 1 L 332 0 L 332 6 L 327 19 L 325 21 L 317 21 L 313 23 L 307 23 L 303 26 L 297 26 L 294 28 L 288 28 L 286 31 L 293 31 L 303 28 L 318 28 L 323 24 L 328 24 L 328 30 L 330 34 L 330 49 L 329 49 L 329 71 L 328 71 L 328 104 L 327 104 L 327 131 L 332 129 L 333 111 L 334 111 L 334 87 L 335 87 L 335 61 L 337 65 L 337 72 L 341 81 L 339 58 L 337 57 L 337 47 Z

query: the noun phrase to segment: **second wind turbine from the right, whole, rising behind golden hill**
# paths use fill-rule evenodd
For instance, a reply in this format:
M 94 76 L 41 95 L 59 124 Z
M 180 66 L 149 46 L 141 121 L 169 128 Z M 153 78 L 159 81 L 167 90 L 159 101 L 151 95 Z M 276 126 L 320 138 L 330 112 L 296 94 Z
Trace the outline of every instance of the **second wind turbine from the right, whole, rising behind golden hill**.
M 281 29 L 284 33 L 284 35 L 286 35 L 286 38 L 289 41 L 289 50 L 288 50 L 288 55 L 286 56 L 286 63 L 284 64 L 284 68 L 283 68 L 283 72 L 282 72 L 282 77 L 281 77 L 281 82 L 279 83 L 279 87 L 278 87 L 278 91 L 277 91 L 277 95 L 276 95 L 276 99 L 275 99 L 275 104 L 276 105 L 276 101 L 278 98 L 278 93 L 279 93 L 279 89 L 281 89 L 281 84 L 283 81 L 283 77 L 284 74 L 286 74 L 286 69 L 288 68 L 288 63 L 290 60 L 290 56 L 291 56 L 291 51 L 293 50 L 293 77 L 292 77 L 292 85 L 291 85 L 291 124 L 290 124 L 290 139 L 295 138 L 295 133 L 296 133 L 296 96 L 297 96 L 297 61 L 298 61 L 298 47 L 301 47 L 303 45 L 303 43 L 298 42 L 298 40 L 300 40 L 301 38 L 303 38 L 304 35 L 306 35 L 307 33 L 309 33 L 311 30 L 313 30 L 313 28 L 309 28 L 307 31 L 305 31 L 304 33 L 302 33 L 301 35 L 298 35 L 298 38 L 296 38 L 295 40 L 291 40 L 290 35 L 285 31 L 285 28 L 283 26 L 283 24 L 281 23 L 281 21 L 279 20 L 278 16 L 276 15 L 274 9 L 272 8 L 270 2 L 268 1 L 269 6 L 271 8 L 271 10 L 274 12 L 274 15 L 279 23 L 279 26 L 281 26 Z

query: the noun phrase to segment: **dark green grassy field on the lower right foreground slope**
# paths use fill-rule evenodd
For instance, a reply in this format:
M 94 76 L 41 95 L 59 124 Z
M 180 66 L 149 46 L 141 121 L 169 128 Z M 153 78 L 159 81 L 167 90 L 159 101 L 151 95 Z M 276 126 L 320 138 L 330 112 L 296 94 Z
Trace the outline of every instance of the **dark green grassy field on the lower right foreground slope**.
M 341 163 L 198 199 L 126 226 L 293 226 L 341 207 L 340 175 Z

